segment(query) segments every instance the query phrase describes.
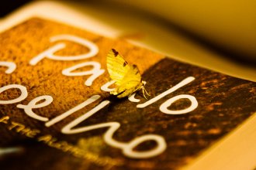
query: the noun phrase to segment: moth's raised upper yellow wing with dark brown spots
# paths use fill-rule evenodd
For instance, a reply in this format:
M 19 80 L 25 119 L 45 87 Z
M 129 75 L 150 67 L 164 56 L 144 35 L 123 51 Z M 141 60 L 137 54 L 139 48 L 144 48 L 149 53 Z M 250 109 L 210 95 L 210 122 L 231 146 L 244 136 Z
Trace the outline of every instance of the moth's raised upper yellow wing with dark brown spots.
M 111 49 L 107 55 L 107 69 L 110 78 L 116 81 L 116 85 L 120 86 L 123 83 L 123 78 L 130 70 L 130 65 L 115 49 Z

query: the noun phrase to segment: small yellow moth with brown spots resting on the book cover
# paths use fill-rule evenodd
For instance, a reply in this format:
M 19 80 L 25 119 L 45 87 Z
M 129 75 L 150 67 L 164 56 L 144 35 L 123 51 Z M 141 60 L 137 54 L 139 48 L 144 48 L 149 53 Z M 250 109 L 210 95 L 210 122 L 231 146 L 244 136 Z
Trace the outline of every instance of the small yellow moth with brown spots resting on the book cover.
M 145 95 L 147 90 L 144 87 L 146 82 L 141 80 L 140 71 L 136 65 L 127 63 L 116 49 L 110 49 L 106 63 L 110 78 L 116 81 L 116 89 L 110 92 L 112 95 L 118 98 L 130 97 L 138 90 L 142 90 L 147 99 Z M 150 96 L 149 93 L 147 95 Z

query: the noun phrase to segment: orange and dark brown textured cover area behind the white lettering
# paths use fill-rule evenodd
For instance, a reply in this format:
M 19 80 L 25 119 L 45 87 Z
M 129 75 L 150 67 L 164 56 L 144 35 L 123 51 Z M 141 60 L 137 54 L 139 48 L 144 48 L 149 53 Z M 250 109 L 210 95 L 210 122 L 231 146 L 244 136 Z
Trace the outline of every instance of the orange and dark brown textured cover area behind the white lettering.
M 51 37 L 60 35 L 88 39 L 98 46 L 99 53 L 88 59 L 43 58 L 34 65 L 29 64 L 40 53 L 61 42 L 66 47 L 54 55 L 68 57 L 89 52 L 85 46 L 67 39 L 50 42 Z M 106 54 L 112 48 L 125 56 L 128 63 L 137 64 L 143 80 L 147 81 L 146 89 L 150 92 L 148 100 L 144 99 L 141 91 L 135 96 L 140 102 L 135 103 L 127 98 L 116 99 L 109 92 L 101 90 L 102 85 L 109 81 Z M 91 86 L 85 85 L 90 75 L 65 76 L 62 73 L 71 66 L 92 61 L 100 63 L 105 72 Z M 2 62 L 16 63 L 16 70 L 5 73 L 6 66 Z M 84 66 L 73 73 L 90 69 L 92 66 Z M 177 84 L 186 79 L 190 81 L 175 89 Z M 17 88 L 0 90 L 2 169 L 181 168 L 256 111 L 256 83 L 180 63 L 123 40 L 108 39 L 38 18 L 29 19 L 0 34 L 0 87 L 10 84 L 26 87 L 28 96 L 15 104 L 2 104 L 2 101 L 19 97 L 21 91 Z M 175 90 L 147 107 L 140 108 L 141 104 L 147 104 L 145 102 L 154 100 L 170 89 Z M 47 121 L 29 117 L 24 109 L 17 107 L 18 104 L 29 104 L 42 95 L 52 97 L 52 103 L 35 108 L 33 112 L 47 118 L 47 121 L 64 114 L 93 95 L 100 97 L 47 127 Z M 179 95 L 192 98 L 185 99 L 183 96 L 175 100 L 175 97 L 181 97 Z M 175 101 L 171 104 L 170 99 Z M 195 100 L 198 105 L 188 113 L 166 113 L 167 110 L 185 110 L 192 103 L 195 106 Z M 108 101 L 109 104 L 73 129 L 109 122 L 110 125 L 76 134 L 61 132 L 67 124 L 87 114 L 102 101 Z M 112 135 L 117 144 L 109 145 L 104 136 L 113 124 L 119 124 Z M 163 151 L 148 158 L 134 158 L 123 153 L 123 146 L 148 134 L 164 139 Z M 145 141 L 134 146 L 133 151 L 150 151 L 156 147 L 156 141 Z

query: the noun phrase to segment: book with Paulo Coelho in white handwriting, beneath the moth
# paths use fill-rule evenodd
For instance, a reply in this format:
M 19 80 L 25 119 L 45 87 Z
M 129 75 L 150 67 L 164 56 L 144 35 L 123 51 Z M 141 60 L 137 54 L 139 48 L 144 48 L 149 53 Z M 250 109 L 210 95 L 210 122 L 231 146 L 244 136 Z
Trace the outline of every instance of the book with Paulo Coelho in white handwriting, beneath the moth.
M 3 169 L 255 167 L 256 83 L 35 15 L 67 12 L 54 4 L 3 22 L 16 23 L 0 34 Z M 110 49 L 138 66 L 148 99 L 110 95 Z

